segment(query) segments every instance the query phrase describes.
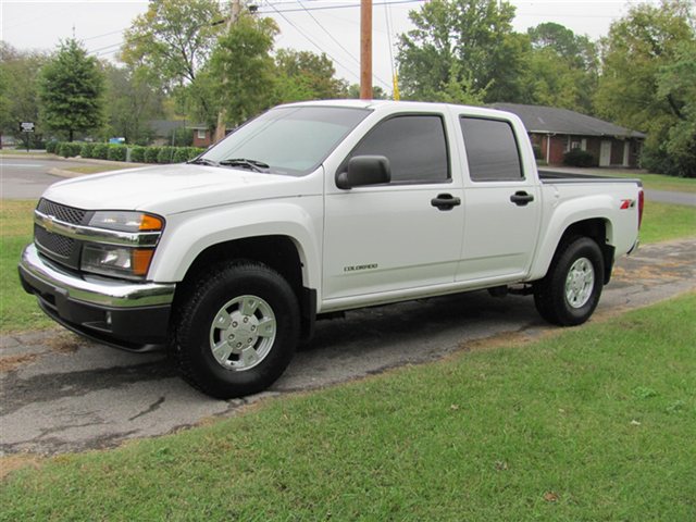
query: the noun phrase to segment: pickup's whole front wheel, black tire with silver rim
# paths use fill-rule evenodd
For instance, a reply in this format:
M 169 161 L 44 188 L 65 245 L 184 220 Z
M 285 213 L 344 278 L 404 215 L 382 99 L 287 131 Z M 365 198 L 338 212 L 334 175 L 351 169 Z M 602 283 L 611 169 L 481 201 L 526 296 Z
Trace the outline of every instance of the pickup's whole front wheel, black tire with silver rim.
M 213 268 L 189 288 L 172 341 L 182 376 L 219 399 L 273 384 L 299 337 L 297 297 L 283 276 L 261 263 L 237 262 Z

